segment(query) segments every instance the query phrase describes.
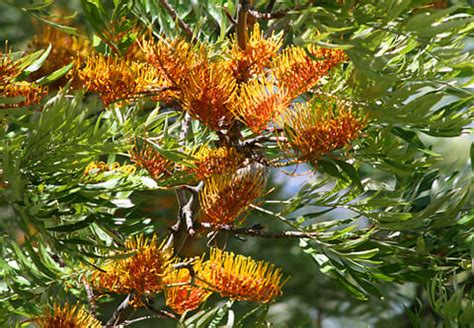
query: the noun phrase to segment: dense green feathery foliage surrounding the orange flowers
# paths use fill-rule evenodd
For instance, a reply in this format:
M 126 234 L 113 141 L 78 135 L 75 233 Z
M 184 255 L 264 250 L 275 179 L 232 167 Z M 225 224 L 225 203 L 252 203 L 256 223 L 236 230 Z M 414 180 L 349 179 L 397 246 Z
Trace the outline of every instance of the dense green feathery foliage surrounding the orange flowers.
M 257 305 L 213 296 L 204 311 L 183 322 L 472 326 L 471 4 L 277 0 L 255 1 L 251 8 L 265 35 L 281 33 L 285 45 L 344 50 L 348 62 L 304 99 L 337 97 L 366 115 L 367 125 L 350 146 L 317 163 L 269 168 L 267 190 L 274 190 L 244 226 L 280 232 L 290 225 L 311 238 L 236 238 L 222 232 L 214 240 L 282 268 L 290 276 L 282 297 Z M 69 63 L 38 74 L 54 44 L 33 49 L 35 28 L 49 25 L 88 36 L 97 52 L 124 55 L 137 38 L 136 26 L 151 28 L 155 36 L 189 38 L 181 21 L 218 53 L 231 42 L 237 11 L 236 1 L 224 0 L 0 1 L 0 42 L 8 40 L 12 55 L 24 58 L 27 67 L 18 78 L 50 89 L 41 103 L 18 108 L 9 108 L 15 101 L 0 95 L 4 326 L 27 325 L 45 305 L 66 300 L 89 306 L 83 279 L 93 263 L 100 266 L 129 235 L 155 232 L 164 238 L 174 224 L 173 189 L 158 188 L 160 181 L 146 170 L 87 180 L 90 162 L 128 162 L 131 140 L 163 135 L 162 155 L 178 164 L 188 159 L 178 142 L 181 111 L 150 99 L 105 109 L 97 95 L 58 89 L 58 81 L 67 81 Z M 58 15 L 70 15 L 68 24 Z M 191 129 L 186 147 L 216 140 L 197 120 Z M 266 155 L 275 157 L 278 144 L 263 144 Z M 188 238 L 180 255 L 199 256 L 207 242 L 206 235 Z M 107 321 L 122 301 L 119 295 L 98 299 L 99 319 Z M 147 313 L 141 309 L 131 318 Z M 176 326 L 176 321 L 150 319 L 132 326 L 157 324 Z

